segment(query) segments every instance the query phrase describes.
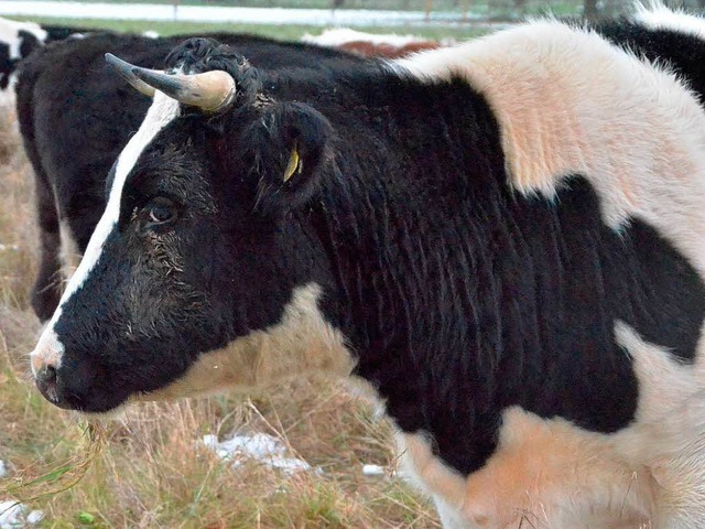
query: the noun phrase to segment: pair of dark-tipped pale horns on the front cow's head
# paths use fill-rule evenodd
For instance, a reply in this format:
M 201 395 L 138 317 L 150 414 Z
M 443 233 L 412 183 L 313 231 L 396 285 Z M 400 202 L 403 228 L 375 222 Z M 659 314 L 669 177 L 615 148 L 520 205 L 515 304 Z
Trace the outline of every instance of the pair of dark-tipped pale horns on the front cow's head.
M 144 91 L 133 84 L 133 78 L 152 90 L 163 91 L 184 105 L 198 107 L 206 112 L 224 110 L 235 99 L 235 79 L 227 72 L 214 69 L 193 75 L 165 74 L 158 69 L 134 66 L 112 55 L 108 58 L 108 62 L 128 83 L 142 93 Z

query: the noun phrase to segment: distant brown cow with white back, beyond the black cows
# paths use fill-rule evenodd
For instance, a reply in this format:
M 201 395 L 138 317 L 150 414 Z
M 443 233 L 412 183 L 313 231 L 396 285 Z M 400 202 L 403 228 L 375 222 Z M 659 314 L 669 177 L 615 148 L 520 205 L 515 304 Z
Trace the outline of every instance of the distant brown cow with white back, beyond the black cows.
M 387 58 L 405 57 L 416 52 L 435 50 L 454 43 L 449 40 L 438 42 L 413 35 L 365 33 L 349 28 L 326 30 L 319 35 L 307 33 L 301 40 L 310 44 L 355 53 L 364 57 Z

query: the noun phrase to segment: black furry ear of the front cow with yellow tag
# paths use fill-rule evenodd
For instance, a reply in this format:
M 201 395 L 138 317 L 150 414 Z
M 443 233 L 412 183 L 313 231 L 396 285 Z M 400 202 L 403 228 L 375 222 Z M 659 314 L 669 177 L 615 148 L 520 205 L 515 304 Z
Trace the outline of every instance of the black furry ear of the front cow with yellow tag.
M 252 149 L 251 181 L 257 186 L 257 207 L 285 212 L 304 205 L 319 185 L 328 156 L 332 127 L 314 108 L 299 104 L 273 104 L 248 134 Z

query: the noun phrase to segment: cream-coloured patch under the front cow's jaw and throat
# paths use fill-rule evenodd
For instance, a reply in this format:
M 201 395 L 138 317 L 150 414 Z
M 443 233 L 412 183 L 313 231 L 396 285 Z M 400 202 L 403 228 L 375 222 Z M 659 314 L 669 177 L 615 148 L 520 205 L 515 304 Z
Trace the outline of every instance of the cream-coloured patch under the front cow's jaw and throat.
M 315 283 L 294 289 L 280 323 L 202 353 L 178 380 L 137 400 L 251 390 L 313 373 L 347 377 L 355 361 L 343 334 L 321 313 L 321 294 Z

